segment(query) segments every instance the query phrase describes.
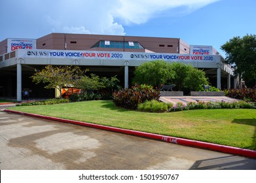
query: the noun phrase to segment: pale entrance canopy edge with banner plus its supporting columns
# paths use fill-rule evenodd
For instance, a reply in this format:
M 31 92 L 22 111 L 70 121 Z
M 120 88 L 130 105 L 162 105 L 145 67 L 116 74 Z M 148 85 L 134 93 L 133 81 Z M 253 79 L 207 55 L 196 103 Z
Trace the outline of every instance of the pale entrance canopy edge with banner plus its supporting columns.
M 216 55 L 194 55 L 194 54 L 166 54 L 145 52 L 109 52 L 109 51 L 87 51 L 87 50 L 15 50 L 0 56 L 0 69 L 16 67 L 17 74 L 17 100 L 22 95 L 22 67 L 21 65 L 78 65 L 78 66 L 100 66 L 100 67 L 124 67 L 124 87 L 128 87 L 128 67 L 136 67 L 142 63 L 164 60 L 166 62 L 181 62 L 190 64 L 196 68 L 208 69 L 217 76 L 217 88 L 221 88 L 221 74 L 229 78 L 232 69 L 224 65 L 221 56 Z M 104 72 L 102 70 L 101 72 Z

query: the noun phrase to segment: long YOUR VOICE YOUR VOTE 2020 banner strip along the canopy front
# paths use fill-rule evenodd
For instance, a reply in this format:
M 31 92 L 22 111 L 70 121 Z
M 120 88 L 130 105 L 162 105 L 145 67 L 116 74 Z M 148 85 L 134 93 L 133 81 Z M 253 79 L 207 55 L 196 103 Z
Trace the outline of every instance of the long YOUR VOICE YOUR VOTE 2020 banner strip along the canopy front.
M 219 62 L 220 56 L 192 54 L 164 54 L 141 52 L 97 52 L 88 50 L 18 50 L 20 58 L 71 58 L 71 59 L 107 59 L 139 61 L 213 61 Z

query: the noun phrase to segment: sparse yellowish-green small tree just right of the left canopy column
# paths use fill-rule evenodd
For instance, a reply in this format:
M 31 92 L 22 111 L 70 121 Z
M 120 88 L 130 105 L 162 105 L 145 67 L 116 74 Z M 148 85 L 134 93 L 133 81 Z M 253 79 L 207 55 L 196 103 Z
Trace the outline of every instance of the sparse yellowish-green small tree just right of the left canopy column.
M 81 71 L 80 67 L 47 65 L 45 69 L 36 71 L 31 78 L 36 84 L 43 82 L 45 88 L 57 88 L 62 93 L 62 88 L 74 87 L 86 71 Z

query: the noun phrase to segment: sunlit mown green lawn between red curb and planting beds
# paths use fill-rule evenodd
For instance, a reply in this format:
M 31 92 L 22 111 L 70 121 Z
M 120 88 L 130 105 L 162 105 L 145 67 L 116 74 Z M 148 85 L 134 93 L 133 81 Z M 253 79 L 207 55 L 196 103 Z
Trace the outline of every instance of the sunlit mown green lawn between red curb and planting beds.
M 84 101 L 10 109 L 256 150 L 255 109 L 149 113 L 118 108 L 112 101 Z

